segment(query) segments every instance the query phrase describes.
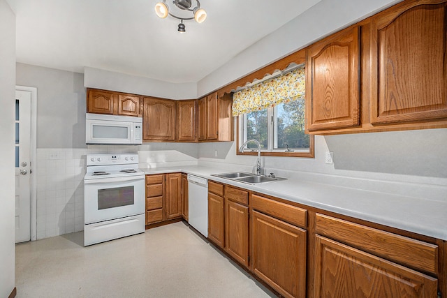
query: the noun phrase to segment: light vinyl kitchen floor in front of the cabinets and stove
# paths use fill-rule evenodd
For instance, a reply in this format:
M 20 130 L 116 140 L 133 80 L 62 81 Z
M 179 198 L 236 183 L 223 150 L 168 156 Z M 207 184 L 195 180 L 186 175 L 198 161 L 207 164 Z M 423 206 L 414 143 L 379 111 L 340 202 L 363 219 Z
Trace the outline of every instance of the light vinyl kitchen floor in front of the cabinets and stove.
M 182 222 L 83 241 L 77 232 L 17 244 L 17 298 L 275 297 Z

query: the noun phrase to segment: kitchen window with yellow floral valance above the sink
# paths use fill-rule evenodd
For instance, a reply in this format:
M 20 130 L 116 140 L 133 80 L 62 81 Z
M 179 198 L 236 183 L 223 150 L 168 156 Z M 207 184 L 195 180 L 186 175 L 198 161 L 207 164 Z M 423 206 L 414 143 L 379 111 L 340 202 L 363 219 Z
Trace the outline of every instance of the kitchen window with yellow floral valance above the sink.
M 233 96 L 237 149 L 254 139 L 264 156 L 314 157 L 314 136 L 305 134 L 304 73 L 298 68 Z M 257 154 L 255 144 L 246 148 L 237 154 Z

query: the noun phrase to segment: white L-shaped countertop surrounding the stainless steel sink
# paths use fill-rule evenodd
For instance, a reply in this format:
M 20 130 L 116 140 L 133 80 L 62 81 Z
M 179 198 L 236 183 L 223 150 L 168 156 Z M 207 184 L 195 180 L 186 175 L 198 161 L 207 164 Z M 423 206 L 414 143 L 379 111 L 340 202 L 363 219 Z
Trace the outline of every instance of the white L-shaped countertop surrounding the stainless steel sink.
M 228 171 L 219 169 L 219 167 L 200 165 L 140 168 L 140 170 L 146 174 L 168 172 L 195 174 L 213 181 L 272 195 L 310 207 L 447 240 L 447 202 L 318 184 L 298 179 L 256 185 L 244 184 L 211 176 L 211 174 L 235 172 L 237 169 Z

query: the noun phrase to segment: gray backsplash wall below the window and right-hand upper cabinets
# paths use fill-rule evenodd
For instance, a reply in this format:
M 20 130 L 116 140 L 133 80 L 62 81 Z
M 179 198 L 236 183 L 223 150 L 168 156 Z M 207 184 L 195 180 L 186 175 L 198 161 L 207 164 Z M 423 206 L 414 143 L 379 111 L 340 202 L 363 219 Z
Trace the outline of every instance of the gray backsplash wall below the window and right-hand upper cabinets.
M 447 128 L 315 137 L 315 158 L 262 157 L 263 166 L 387 181 L 447 185 Z M 214 152 L 217 150 L 217 158 Z M 334 154 L 325 163 L 325 151 Z M 255 156 L 237 156 L 235 142 L 202 143 L 199 161 L 254 165 Z

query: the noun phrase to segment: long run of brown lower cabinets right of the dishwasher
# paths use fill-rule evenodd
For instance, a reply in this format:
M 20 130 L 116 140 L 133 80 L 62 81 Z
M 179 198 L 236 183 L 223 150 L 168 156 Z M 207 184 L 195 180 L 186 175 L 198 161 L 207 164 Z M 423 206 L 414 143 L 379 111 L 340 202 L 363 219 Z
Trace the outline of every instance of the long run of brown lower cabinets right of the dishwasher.
M 447 288 L 446 241 L 208 186 L 208 239 L 281 297 L 436 298 Z

